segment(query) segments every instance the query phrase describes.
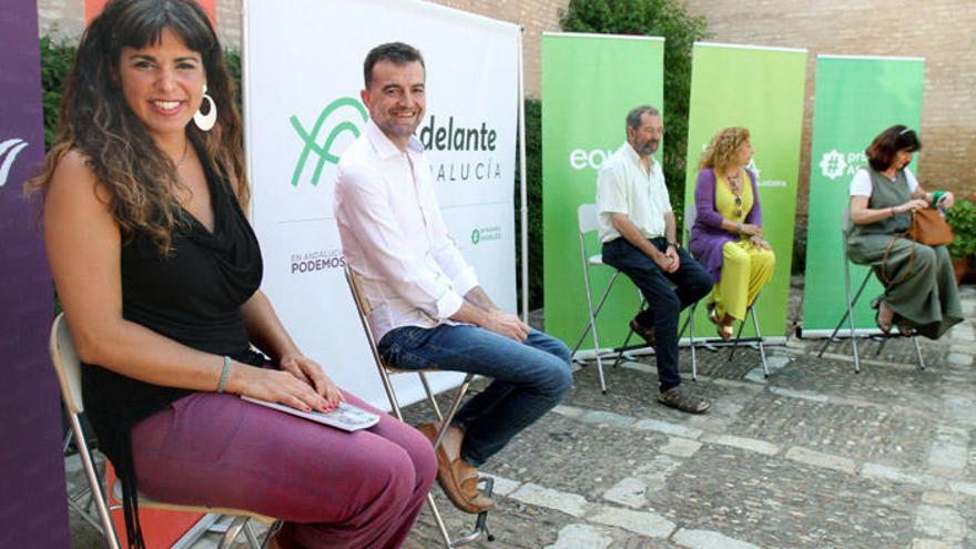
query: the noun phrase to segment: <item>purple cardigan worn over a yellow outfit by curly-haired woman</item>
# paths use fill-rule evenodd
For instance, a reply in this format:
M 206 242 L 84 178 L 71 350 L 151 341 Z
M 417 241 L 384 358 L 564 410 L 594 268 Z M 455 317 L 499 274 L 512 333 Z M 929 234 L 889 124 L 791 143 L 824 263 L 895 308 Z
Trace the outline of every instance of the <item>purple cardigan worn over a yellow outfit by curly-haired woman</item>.
M 746 170 L 752 185 L 752 210 L 745 214 L 745 223 L 762 226 L 762 207 L 759 204 L 759 190 L 755 186 L 755 174 Z M 715 172 L 711 167 L 698 172 L 694 184 L 694 209 L 697 216 L 691 227 L 691 242 L 688 247 L 691 255 L 701 263 L 712 279 L 719 282 L 722 273 L 722 246 L 726 242 L 735 242 L 739 236 L 722 228 L 722 214 L 715 210 Z

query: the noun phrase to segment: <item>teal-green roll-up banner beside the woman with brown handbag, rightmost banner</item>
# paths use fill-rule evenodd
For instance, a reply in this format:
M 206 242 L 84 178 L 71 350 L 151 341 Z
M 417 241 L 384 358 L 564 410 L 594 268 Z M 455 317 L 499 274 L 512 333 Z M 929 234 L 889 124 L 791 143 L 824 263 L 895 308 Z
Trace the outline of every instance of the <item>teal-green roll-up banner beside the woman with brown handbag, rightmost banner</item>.
M 923 59 L 816 58 L 803 292 L 805 336 L 828 335 L 845 312 L 841 220 L 850 202 L 851 177 L 867 165 L 864 150 L 884 129 L 906 124 L 917 131 L 924 72 Z M 914 164 L 912 167 L 914 171 Z M 865 267 L 852 265 L 852 292 L 865 272 Z M 854 309 L 855 326 L 875 328 L 867 297 L 878 295 L 881 284 L 872 276 L 864 292 Z

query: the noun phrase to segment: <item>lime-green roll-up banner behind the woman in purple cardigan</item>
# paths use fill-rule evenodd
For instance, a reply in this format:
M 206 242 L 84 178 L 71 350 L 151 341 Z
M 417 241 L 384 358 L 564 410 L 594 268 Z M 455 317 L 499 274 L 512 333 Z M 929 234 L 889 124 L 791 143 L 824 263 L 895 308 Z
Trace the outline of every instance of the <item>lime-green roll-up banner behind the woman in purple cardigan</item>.
M 763 336 L 782 337 L 790 303 L 806 50 L 695 43 L 692 63 L 685 209 L 694 205 L 698 163 L 712 135 L 728 126 L 748 128 L 755 150 L 749 167 L 759 175 L 763 236 L 776 253 L 773 279 L 755 308 Z M 714 337 L 704 308 L 698 309 L 697 335 Z M 746 322 L 743 335 L 752 334 L 752 323 Z

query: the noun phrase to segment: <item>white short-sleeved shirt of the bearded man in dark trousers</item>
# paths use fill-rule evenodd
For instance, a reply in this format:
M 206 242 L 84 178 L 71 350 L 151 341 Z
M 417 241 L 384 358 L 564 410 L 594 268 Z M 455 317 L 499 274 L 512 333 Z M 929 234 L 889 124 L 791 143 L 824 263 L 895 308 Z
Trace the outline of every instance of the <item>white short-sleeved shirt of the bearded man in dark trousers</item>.
M 624 142 L 600 167 L 597 211 L 600 242 L 620 237 L 611 221 L 613 213 L 627 214 L 648 238 L 664 236 L 664 214 L 671 211 L 671 199 L 661 164 L 651 156 L 650 170 L 644 171 L 637 151 Z

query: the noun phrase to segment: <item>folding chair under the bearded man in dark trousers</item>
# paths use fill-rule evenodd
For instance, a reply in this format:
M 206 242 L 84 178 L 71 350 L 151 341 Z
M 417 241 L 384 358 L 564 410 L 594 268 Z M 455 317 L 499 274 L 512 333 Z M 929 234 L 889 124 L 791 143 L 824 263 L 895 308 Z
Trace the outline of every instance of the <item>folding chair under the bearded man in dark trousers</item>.
M 587 235 L 589 233 L 597 232 L 599 230 L 599 223 L 597 217 L 597 205 L 596 204 L 580 204 L 577 209 L 577 232 L 579 235 L 579 247 L 580 247 L 580 261 L 583 270 L 583 285 L 586 286 L 587 292 L 587 324 L 583 326 L 582 333 L 580 333 L 579 338 L 577 338 L 576 345 L 572 347 L 572 357 L 575 362 L 582 363 L 582 360 L 576 357 L 577 352 L 579 352 L 580 346 L 583 343 L 583 339 L 587 337 L 587 333 L 593 337 L 593 354 L 597 359 L 597 374 L 600 378 L 600 390 L 603 394 L 607 394 L 607 382 L 603 378 L 603 349 L 600 348 L 600 335 L 597 331 L 597 316 L 600 314 L 600 311 L 603 308 L 603 304 L 607 302 L 607 297 L 610 295 L 610 291 L 613 289 L 613 285 L 617 283 L 617 278 L 620 276 L 620 271 L 611 267 L 603 263 L 603 254 L 588 254 L 587 253 Z M 600 295 L 600 299 L 597 302 L 597 305 L 593 305 L 593 293 L 592 293 L 592 279 L 590 277 L 590 268 L 597 266 L 607 266 L 613 268 L 613 274 L 610 275 L 610 281 L 607 282 L 607 287 L 603 288 L 603 293 Z M 640 308 L 643 308 L 647 305 L 643 296 L 638 291 L 638 296 L 640 296 Z M 649 345 L 634 345 L 630 346 L 630 338 L 633 336 L 633 331 L 629 331 L 627 334 L 627 338 L 623 340 L 623 345 L 620 347 L 613 348 L 610 352 L 617 353 L 617 358 L 613 362 L 613 366 L 617 366 L 621 358 L 626 353 L 630 350 L 637 350 L 640 348 L 647 348 Z

